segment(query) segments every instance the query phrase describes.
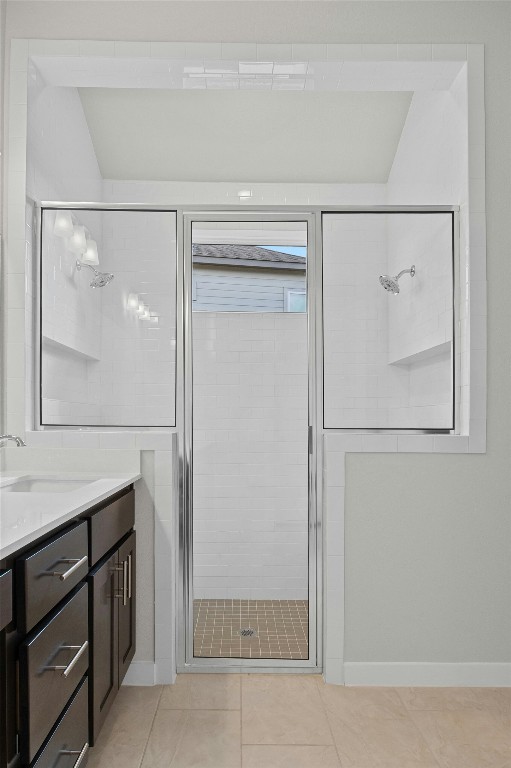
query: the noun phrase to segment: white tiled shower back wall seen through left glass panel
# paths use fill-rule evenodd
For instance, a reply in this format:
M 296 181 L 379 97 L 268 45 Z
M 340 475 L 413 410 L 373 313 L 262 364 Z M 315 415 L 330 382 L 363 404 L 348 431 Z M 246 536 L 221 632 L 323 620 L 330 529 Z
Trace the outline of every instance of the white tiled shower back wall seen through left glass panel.
M 171 212 L 105 211 L 101 269 L 114 274 L 102 289 L 100 424 L 175 424 L 176 216 Z M 127 306 L 136 294 L 157 318 Z

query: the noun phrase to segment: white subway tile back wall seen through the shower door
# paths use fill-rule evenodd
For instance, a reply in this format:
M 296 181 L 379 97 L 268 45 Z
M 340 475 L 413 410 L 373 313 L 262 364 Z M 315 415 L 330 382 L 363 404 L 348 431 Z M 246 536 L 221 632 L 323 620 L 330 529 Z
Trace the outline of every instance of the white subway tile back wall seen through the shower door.
M 194 312 L 194 598 L 308 597 L 307 317 Z

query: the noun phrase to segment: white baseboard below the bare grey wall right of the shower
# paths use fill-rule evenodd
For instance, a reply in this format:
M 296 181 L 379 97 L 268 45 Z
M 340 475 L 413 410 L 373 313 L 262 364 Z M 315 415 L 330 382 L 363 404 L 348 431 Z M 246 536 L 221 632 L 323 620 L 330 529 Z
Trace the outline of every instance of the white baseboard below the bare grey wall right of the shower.
M 345 685 L 511 686 L 511 662 L 355 662 L 344 663 Z

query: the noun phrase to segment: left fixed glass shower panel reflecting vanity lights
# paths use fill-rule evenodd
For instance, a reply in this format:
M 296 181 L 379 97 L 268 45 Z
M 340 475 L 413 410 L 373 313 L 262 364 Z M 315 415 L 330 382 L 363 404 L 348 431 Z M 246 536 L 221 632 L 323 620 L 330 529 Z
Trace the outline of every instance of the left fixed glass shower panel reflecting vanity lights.
M 41 424 L 175 424 L 176 216 L 42 212 Z

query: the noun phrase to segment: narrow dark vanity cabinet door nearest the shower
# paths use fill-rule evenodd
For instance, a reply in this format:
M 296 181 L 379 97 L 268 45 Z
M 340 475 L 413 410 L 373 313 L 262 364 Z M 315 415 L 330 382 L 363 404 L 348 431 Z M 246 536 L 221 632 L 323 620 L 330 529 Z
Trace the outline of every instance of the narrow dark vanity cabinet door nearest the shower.
M 118 549 L 121 589 L 119 609 L 119 685 L 135 655 L 136 536 L 131 533 Z

